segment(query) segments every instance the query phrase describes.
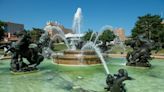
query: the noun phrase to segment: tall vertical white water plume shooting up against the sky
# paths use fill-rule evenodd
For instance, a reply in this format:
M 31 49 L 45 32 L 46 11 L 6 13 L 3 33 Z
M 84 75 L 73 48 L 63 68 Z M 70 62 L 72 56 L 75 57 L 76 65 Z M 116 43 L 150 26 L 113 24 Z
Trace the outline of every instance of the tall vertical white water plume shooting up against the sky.
M 73 25 L 72 25 L 72 30 L 75 34 L 80 34 L 81 20 L 82 20 L 82 9 L 78 8 L 74 15 Z

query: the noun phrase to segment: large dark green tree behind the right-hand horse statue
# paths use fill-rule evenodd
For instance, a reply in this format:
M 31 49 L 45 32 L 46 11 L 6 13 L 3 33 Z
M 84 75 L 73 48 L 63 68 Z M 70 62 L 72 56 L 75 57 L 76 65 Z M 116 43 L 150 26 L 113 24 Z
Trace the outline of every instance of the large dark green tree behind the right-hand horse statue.
M 161 42 L 163 41 L 162 35 L 164 35 L 163 27 L 162 18 L 159 15 L 140 16 L 132 29 L 132 38 L 145 34 L 145 38 Z

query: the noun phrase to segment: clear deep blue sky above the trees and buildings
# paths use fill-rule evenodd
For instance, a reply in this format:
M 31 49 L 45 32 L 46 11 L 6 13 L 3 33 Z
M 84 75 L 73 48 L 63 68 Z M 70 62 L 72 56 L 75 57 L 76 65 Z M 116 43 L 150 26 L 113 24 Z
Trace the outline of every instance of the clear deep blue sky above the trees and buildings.
M 78 7 L 82 32 L 110 25 L 123 28 L 129 36 L 138 16 L 164 16 L 164 0 L 0 0 L 0 20 L 24 24 L 26 30 L 44 28 L 47 21 L 72 28 Z

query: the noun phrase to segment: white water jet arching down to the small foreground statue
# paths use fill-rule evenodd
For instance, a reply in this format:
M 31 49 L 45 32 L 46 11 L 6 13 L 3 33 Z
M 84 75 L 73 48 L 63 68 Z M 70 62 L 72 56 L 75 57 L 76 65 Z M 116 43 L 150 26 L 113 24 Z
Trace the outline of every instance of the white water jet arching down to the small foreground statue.
M 90 49 L 90 48 L 93 48 L 93 49 L 95 50 L 95 52 L 97 53 L 98 57 L 100 58 L 100 60 L 101 60 L 101 62 L 102 62 L 102 64 L 103 64 L 103 66 L 104 66 L 104 69 L 105 69 L 106 73 L 109 74 L 109 70 L 108 70 L 107 64 L 106 64 L 106 62 L 105 62 L 105 60 L 104 60 L 104 57 L 103 57 L 102 54 L 101 54 L 100 49 L 99 49 L 98 47 L 96 47 L 95 44 L 94 44 L 93 42 L 88 42 L 88 43 L 86 43 L 86 44 L 82 47 L 81 50 L 84 50 L 84 49 L 86 49 L 86 48 L 89 48 L 89 49 Z

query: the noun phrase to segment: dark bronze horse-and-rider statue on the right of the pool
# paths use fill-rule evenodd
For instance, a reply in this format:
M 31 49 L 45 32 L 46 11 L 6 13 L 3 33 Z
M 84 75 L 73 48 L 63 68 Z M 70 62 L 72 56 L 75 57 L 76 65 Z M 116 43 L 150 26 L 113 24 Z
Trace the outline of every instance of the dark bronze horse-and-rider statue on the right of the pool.
M 143 66 L 150 67 L 149 60 L 151 59 L 151 50 L 154 42 L 144 38 L 144 35 L 139 35 L 136 39 L 130 42 L 130 46 L 133 48 L 132 52 L 127 54 L 127 65 L 130 66 Z

